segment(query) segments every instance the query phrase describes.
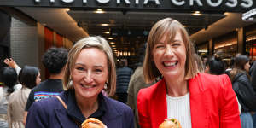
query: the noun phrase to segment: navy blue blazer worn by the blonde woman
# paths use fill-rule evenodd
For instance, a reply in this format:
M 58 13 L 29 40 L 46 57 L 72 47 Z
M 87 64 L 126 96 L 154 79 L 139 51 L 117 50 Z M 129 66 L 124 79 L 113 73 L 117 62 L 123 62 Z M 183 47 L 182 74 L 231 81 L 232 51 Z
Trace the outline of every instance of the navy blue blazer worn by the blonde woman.
M 82 123 L 84 116 L 81 118 L 79 108 L 73 105 L 76 104 L 75 99 L 67 91 L 60 97 L 67 104 L 67 109 L 55 97 L 34 102 L 28 111 L 26 128 L 78 128 L 73 120 Z M 131 108 L 106 96 L 102 96 L 102 100 L 106 111 L 101 120 L 108 128 L 134 127 Z

